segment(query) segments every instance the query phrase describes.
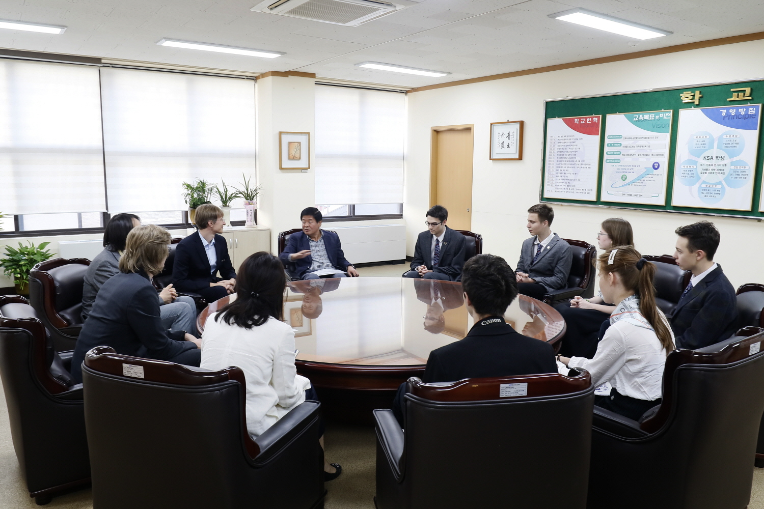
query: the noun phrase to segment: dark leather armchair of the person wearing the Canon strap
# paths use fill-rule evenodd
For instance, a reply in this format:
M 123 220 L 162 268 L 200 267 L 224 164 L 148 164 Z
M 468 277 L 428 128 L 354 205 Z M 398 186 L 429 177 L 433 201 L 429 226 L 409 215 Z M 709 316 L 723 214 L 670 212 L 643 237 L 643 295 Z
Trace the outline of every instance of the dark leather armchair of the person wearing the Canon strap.
M 377 509 L 586 507 L 588 372 L 408 385 L 405 433 L 374 411 Z

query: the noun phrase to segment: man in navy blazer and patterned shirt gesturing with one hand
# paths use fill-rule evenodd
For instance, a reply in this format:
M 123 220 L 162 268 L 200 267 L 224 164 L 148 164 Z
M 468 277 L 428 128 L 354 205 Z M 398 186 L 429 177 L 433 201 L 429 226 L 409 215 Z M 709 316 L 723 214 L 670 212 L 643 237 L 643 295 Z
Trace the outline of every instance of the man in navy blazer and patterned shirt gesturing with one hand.
M 323 214 L 316 207 L 308 207 L 299 214 L 303 233 L 292 234 L 279 255 L 281 262 L 294 279 L 344 278 L 345 272 L 356 277 L 358 271 L 345 259 L 339 235 L 321 229 Z

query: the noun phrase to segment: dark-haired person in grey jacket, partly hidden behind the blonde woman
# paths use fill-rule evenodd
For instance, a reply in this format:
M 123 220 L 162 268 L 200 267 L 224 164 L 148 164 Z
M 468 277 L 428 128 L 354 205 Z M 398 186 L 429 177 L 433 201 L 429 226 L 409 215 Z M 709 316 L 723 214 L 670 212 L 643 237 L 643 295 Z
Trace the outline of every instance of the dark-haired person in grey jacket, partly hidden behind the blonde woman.
M 125 252 L 128 234 L 141 226 L 141 217 L 135 214 L 116 214 L 108 220 L 103 233 L 103 250 L 98 253 L 85 272 L 83 283 L 83 321 L 92 310 L 95 296 L 103 284 L 119 272 L 119 259 Z M 196 333 L 196 303 L 193 298 L 178 297 L 173 285 L 167 285 L 158 295 L 162 326 L 174 331 Z

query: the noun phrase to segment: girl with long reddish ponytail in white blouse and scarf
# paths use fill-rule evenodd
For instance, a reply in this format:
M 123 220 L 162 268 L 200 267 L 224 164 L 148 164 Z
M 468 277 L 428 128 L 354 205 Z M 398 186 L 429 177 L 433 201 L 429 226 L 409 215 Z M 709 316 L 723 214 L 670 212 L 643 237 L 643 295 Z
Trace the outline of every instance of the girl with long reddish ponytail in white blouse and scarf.
M 594 359 L 558 360 L 569 368 L 586 369 L 594 385 L 610 382 L 610 395 L 597 396 L 594 404 L 638 420 L 661 402 L 663 366 L 674 350 L 674 334 L 656 306 L 652 263 L 632 246 L 613 247 L 598 261 L 602 296 L 619 303 L 610 315 L 610 327 Z

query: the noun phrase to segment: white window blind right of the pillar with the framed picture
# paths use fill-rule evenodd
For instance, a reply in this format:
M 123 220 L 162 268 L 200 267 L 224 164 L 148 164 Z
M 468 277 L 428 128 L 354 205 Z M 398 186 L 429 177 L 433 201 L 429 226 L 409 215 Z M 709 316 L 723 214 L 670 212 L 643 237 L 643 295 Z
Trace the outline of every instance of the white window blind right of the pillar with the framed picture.
M 405 94 L 316 85 L 316 203 L 402 203 L 405 140 Z

